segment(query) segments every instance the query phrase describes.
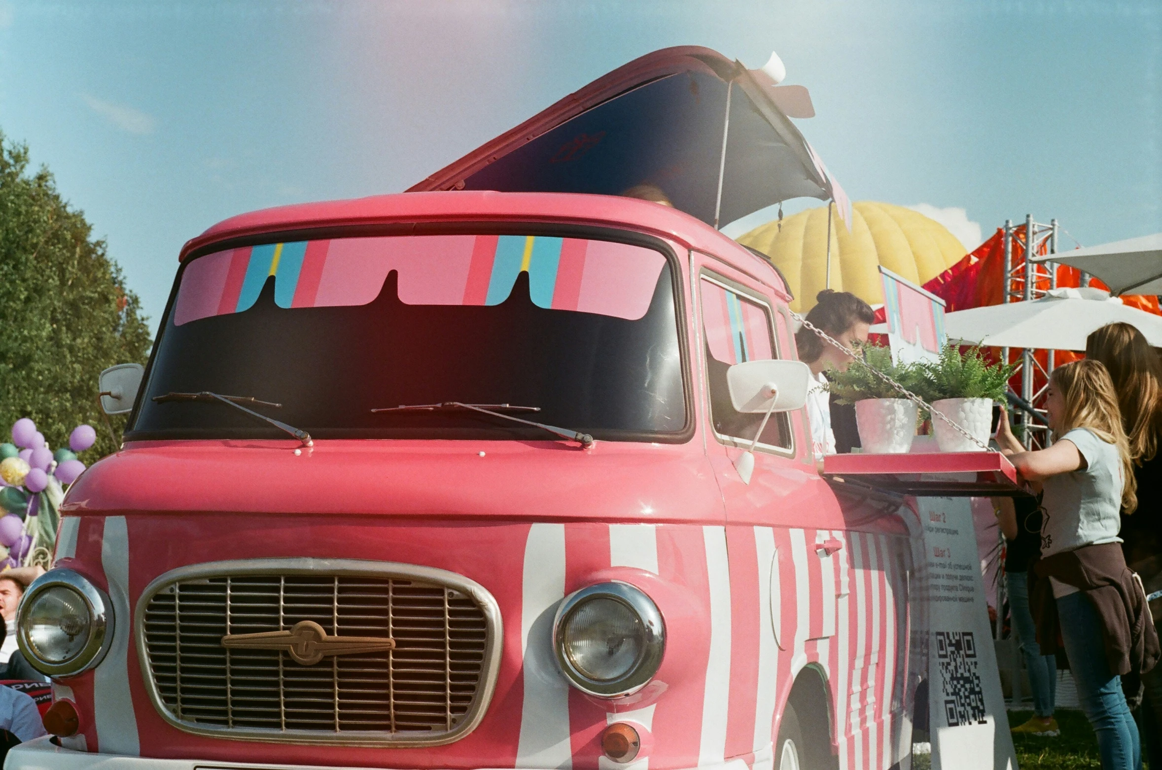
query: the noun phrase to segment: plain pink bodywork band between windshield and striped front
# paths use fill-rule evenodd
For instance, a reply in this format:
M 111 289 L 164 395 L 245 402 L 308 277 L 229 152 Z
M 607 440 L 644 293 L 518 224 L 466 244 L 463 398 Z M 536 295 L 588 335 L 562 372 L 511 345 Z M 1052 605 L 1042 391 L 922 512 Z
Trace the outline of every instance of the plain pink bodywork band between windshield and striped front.
M 132 442 L 86 470 L 63 509 L 723 521 L 694 444 L 643 451 L 603 441 L 582 451 L 553 441 L 321 440 L 301 455 L 295 448 L 294 440 Z M 244 483 L 222 473 L 229 458 L 245 467 Z

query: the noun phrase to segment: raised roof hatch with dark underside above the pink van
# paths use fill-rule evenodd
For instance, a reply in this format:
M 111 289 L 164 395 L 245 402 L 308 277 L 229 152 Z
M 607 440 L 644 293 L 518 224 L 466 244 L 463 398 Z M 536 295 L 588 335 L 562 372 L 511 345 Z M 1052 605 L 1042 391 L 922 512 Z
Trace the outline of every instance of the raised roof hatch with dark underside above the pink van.
M 780 99 L 781 91 L 790 99 Z M 662 49 L 569 94 L 408 192 L 618 195 L 652 183 L 677 209 L 715 226 L 792 197 L 834 199 L 849 221 L 842 188 L 776 100 L 791 111 L 805 101 L 810 110 L 801 86 L 776 86 L 706 48 Z

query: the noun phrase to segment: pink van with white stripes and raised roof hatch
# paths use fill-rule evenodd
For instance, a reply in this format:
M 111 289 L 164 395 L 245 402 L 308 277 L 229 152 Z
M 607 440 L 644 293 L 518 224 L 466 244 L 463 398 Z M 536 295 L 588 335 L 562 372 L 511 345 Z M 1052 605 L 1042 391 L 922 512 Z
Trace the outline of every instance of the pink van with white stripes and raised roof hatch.
M 816 470 L 787 286 L 713 226 L 834 193 L 763 88 L 662 51 L 453 192 L 191 240 L 22 606 L 55 734 L 8 770 L 906 768 L 914 519 Z M 711 108 L 768 185 L 665 134 Z

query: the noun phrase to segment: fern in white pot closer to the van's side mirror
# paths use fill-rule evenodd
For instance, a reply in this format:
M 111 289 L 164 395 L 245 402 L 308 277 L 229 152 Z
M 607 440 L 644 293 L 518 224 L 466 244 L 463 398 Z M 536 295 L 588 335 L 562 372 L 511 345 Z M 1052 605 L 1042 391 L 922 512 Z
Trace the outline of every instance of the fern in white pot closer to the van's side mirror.
M 912 448 L 918 410 L 897 388 L 876 376 L 871 369 L 888 375 L 911 390 L 919 372 L 913 365 L 897 365 L 891 351 L 878 345 L 865 345 L 862 360 L 856 359 L 846 372 L 827 373 L 827 389 L 841 404 L 855 404 L 855 423 L 860 446 L 869 454 L 896 454 Z

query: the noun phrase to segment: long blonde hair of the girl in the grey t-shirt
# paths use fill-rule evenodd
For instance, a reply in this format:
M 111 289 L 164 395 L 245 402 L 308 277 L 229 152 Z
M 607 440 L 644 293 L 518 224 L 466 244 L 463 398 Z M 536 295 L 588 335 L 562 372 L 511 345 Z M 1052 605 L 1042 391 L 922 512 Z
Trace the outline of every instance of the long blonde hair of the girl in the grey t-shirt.
M 1121 427 L 1118 391 L 1113 389 L 1110 372 L 1100 361 L 1082 359 L 1054 369 L 1052 382 L 1061 389 L 1066 402 L 1066 412 L 1056 433 L 1064 436 L 1075 427 L 1084 427 L 1106 444 L 1118 447 L 1121 455 L 1121 508 L 1126 513 L 1133 513 L 1138 508 L 1138 482 L 1126 432 Z

